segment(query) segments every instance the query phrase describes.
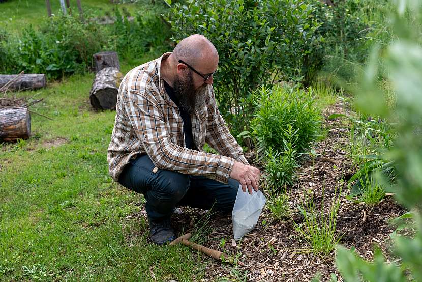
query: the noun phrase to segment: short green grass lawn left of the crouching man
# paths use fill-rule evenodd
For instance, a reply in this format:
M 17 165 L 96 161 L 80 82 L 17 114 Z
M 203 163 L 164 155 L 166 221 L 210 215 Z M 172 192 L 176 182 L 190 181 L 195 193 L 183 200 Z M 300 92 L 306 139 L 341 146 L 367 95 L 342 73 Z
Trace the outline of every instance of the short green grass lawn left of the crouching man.
M 93 78 L 17 95 L 53 120 L 33 114 L 29 140 L 0 145 L 0 280 L 199 279 L 193 252 L 149 244 L 144 220 L 125 218 L 143 197 L 108 175 L 115 111 L 91 109 Z

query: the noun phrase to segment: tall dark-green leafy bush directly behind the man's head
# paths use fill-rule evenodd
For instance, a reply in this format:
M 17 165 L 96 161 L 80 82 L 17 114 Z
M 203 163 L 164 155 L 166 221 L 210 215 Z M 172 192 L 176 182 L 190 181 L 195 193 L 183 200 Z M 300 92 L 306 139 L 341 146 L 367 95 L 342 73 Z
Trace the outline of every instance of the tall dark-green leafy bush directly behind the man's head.
M 297 0 L 194 0 L 172 7 L 174 40 L 202 34 L 220 54 L 216 97 L 234 136 L 249 129 L 251 93 L 258 86 L 277 73 L 286 79 L 300 75 L 304 58 L 319 42 L 313 10 Z

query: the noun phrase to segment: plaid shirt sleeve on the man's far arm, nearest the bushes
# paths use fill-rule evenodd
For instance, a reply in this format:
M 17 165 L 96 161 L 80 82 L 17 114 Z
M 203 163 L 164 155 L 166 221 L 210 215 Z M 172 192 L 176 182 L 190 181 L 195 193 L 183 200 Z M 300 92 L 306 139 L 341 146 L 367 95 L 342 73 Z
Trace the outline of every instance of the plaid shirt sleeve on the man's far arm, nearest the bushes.
M 210 90 L 208 101 L 208 120 L 206 129 L 206 143 L 220 154 L 234 158 L 236 161 L 249 165 L 243 155 L 242 147 L 230 134 L 217 106 L 214 90 Z

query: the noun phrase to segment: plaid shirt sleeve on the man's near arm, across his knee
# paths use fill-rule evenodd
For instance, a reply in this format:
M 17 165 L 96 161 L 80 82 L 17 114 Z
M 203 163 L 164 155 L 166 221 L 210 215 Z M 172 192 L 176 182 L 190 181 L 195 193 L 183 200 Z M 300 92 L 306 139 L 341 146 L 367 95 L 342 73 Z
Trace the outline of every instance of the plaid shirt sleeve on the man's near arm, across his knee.
M 128 90 L 123 102 L 125 114 L 155 166 L 228 183 L 234 165 L 233 158 L 199 152 L 172 143 L 161 107 L 152 93 L 147 90 L 142 93 Z

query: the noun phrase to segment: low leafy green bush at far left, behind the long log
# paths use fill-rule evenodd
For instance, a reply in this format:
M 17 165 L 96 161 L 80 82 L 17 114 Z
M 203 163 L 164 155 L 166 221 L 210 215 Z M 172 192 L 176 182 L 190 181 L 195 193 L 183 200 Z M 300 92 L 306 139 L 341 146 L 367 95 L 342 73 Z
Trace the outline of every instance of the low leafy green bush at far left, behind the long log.
M 29 26 L 19 38 L 10 38 L 8 49 L 0 47 L 0 60 L 8 58 L 0 71 L 46 73 L 49 78 L 83 72 L 92 67 L 92 55 L 101 50 L 106 38 L 95 23 L 70 15 L 53 16 L 39 31 Z

